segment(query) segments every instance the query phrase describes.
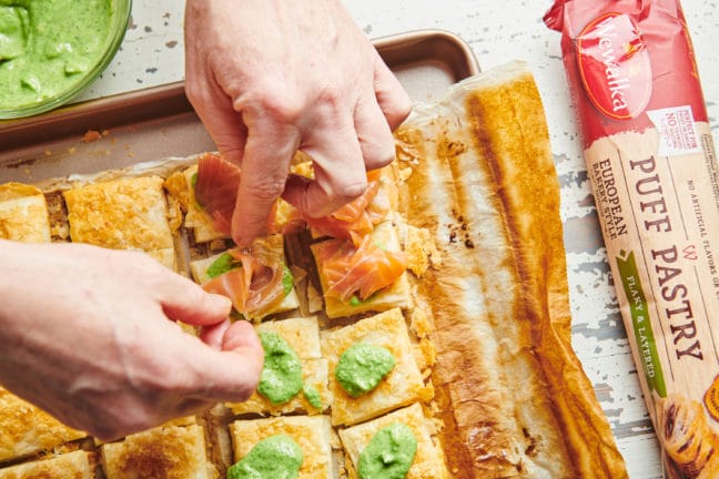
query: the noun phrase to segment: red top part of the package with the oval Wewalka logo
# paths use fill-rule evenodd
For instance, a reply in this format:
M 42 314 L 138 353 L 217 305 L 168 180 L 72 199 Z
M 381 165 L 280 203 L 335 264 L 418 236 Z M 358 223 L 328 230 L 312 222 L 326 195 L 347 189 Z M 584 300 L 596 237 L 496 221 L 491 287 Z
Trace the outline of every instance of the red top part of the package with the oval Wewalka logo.
M 559 0 L 544 20 L 563 33 L 585 146 L 601 136 L 654 128 L 647 111 L 678 104 L 690 105 L 695 121 L 707 122 L 677 0 Z

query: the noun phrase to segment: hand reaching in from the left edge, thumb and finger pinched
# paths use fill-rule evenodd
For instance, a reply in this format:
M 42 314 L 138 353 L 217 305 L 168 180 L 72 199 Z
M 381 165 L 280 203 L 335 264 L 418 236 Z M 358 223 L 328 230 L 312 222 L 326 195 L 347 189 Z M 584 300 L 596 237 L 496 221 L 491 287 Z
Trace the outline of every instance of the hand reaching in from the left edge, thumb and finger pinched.
M 68 426 L 113 439 L 256 387 L 252 326 L 144 254 L 0 241 L 0 384 Z

